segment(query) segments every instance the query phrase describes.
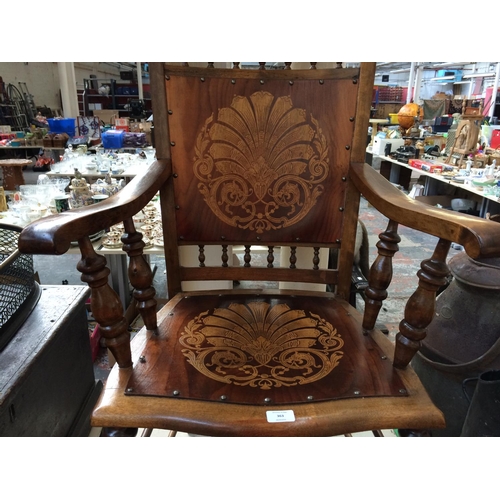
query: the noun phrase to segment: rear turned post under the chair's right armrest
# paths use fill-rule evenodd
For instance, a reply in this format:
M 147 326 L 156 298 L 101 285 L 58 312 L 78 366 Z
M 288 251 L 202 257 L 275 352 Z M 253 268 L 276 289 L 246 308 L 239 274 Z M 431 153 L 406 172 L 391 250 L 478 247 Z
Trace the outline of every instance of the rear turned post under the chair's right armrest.
M 398 223 L 389 220 L 387 229 L 379 234 L 377 243 L 378 256 L 370 268 L 368 287 L 365 290 L 366 304 L 363 316 L 363 329 L 370 331 L 375 328 L 380 308 L 387 298 L 387 288 L 392 280 L 392 258 L 399 250 Z

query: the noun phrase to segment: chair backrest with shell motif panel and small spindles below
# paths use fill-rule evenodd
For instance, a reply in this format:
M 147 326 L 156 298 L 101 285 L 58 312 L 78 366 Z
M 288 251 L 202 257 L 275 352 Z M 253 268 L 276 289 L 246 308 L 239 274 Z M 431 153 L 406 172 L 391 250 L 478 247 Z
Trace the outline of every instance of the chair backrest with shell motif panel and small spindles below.
M 157 157 L 173 172 L 162 193 L 170 294 L 214 279 L 343 284 L 347 293 L 359 203 L 349 166 L 364 160 L 373 68 L 150 71 Z M 234 245 L 245 248 L 241 266 L 232 266 Z M 268 248 L 263 267 L 252 265 L 256 245 Z M 189 246 L 192 265 L 178 257 Z M 277 247 L 290 248 L 286 266 Z M 308 262 L 297 261 L 299 247 L 311 249 Z M 322 248 L 340 249 L 332 269 Z

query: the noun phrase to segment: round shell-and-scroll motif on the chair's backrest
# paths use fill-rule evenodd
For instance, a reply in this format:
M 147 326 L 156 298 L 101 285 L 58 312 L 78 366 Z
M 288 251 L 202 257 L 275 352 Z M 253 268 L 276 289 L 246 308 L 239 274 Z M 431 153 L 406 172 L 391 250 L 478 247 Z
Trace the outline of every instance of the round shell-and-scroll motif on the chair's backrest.
M 256 233 L 303 219 L 328 172 L 318 121 L 289 96 L 236 96 L 206 120 L 196 141 L 194 173 L 205 202 L 225 223 Z

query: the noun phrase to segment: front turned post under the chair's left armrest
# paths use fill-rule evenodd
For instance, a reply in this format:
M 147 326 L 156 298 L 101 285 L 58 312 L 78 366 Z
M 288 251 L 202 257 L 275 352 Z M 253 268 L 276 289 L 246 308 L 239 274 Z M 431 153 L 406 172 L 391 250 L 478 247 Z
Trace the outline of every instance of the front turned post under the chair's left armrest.
M 96 254 L 88 236 L 79 240 L 78 245 L 82 258 L 77 269 L 82 273 L 81 280 L 91 289 L 92 314 L 118 366 L 128 368 L 132 366 L 130 333 L 120 297 L 108 284 L 110 270 L 106 267 L 106 259 Z

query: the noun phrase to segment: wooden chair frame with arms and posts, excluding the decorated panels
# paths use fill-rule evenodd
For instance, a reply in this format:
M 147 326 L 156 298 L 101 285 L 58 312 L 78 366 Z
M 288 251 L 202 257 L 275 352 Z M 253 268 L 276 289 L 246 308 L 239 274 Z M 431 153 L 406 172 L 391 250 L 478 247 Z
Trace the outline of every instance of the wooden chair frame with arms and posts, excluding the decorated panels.
M 444 426 L 441 412 L 432 404 L 418 377 L 408 365 L 425 338 L 427 326 L 434 316 L 436 292 L 443 286 L 448 275 L 446 258 L 451 242 L 463 245 L 472 258 L 498 257 L 500 247 L 497 242 L 500 241 L 500 227 L 492 221 L 443 211 L 412 200 L 364 163 L 365 131 L 368 130 L 374 63 L 362 63 L 359 70 L 345 73 L 346 77 L 356 80 L 356 83 L 358 77 L 362 82 L 357 98 L 353 143 L 349 145 L 351 150 L 349 175 L 343 179 L 347 186 L 344 204 L 347 222 L 346 234 L 343 234 L 342 238 L 352 244 L 343 245 L 341 248 L 338 268 L 348 269 L 349 272 L 338 273 L 338 278 L 335 278 L 337 281 L 334 282 L 335 294 L 331 295 L 345 301 L 344 307 L 348 314 L 355 316 L 360 330 L 365 335 L 370 335 L 384 352 L 384 356 L 392 361 L 411 397 L 405 398 L 404 402 L 401 402 L 401 398 L 384 397 L 295 404 L 296 419 L 292 425 L 277 424 L 270 427 L 267 422 L 257 418 L 262 411 L 258 406 L 229 404 L 224 407 L 224 411 L 220 411 L 220 406 L 214 403 L 127 396 L 125 392 L 127 381 L 133 373 L 134 365 L 141 363 L 141 353 L 148 339 L 157 333 L 158 326 L 175 307 L 176 299 L 172 299 L 182 291 L 181 282 L 186 277 L 197 276 L 194 271 L 189 274 L 190 271 L 183 271 L 179 266 L 179 245 L 177 239 L 172 238 L 170 243 L 165 245 L 165 258 L 169 263 L 168 294 L 171 300 L 157 315 L 151 269 L 142 253 L 144 247 L 142 235 L 136 230 L 132 220 L 133 215 L 139 212 L 157 192 L 160 193 L 162 212 L 175 212 L 176 208 L 173 196 L 175 173 L 172 168 L 167 125 L 166 69 L 167 66 L 163 63 L 150 64 L 155 137 L 163 139 L 157 141 L 157 160 L 150 169 L 108 200 L 34 222 L 23 230 L 19 239 L 19 248 L 24 253 L 56 255 L 65 253 L 72 241 L 78 241 L 82 253 L 78 269 L 82 273 L 82 281 L 88 283 L 92 290 L 94 316 L 101 326 L 106 345 L 117 360 L 117 366 L 112 370 L 106 389 L 94 411 L 93 425 L 118 428 L 159 427 L 198 434 L 263 436 L 336 435 L 366 429 L 415 428 L 419 425 L 429 428 Z M 191 68 L 191 71 L 194 74 L 197 72 L 199 75 L 204 74 L 201 69 Z M 228 70 L 211 68 L 211 71 L 215 74 L 218 72 L 225 74 Z M 232 71 L 238 71 L 239 76 L 246 76 L 244 70 L 238 69 L 237 65 Z M 251 72 L 253 78 L 256 75 L 263 78 L 275 76 L 275 72 L 263 69 L 256 71 Z M 287 72 L 287 77 L 294 77 L 289 64 L 283 71 Z M 321 78 L 323 70 L 311 71 L 315 72 L 316 78 Z M 324 74 L 328 73 L 325 71 Z M 378 256 L 370 270 L 369 285 L 365 290 L 366 304 L 363 317 L 347 303 L 361 195 L 389 219 L 387 229 L 380 235 L 377 244 Z M 132 347 L 123 308 L 116 293 L 107 284 L 109 269 L 106 268 L 106 260 L 95 252 L 88 236 L 122 221 L 125 226 L 123 249 L 130 259 L 129 279 L 134 287 L 135 304 L 145 323 L 144 329 L 132 342 Z M 394 350 L 394 345 L 386 336 L 375 329 L 375 322 L 387 297 L 387 288 L 392 279 L 392 257 L 398 251 L 400 241 L 397 234 L 399 224 L 434 235 L 438 238 L 438 243 L 433 255 L 422 262 L 421 270 L 418 272 L 419 284 L 407 303 Z M 163 219 L 163 231 L 165 235 L 176 234 L 174 218 Z M 217 276 L 222 279 L 237 279 L 240 271 L 234 268 L 203 270 L 206 278 Z M 252 273 L 255 279 L 263 279 L 263 271 L 253 270 Z M 332 273 L 324 271 L 320 275 L 320 282 L 332 282 Z M 283 276 L 285 280 L 293 279 L 291 271 L 283 273 Z M 314 295 L 316 292 L 304 293 Z M 191 292 L 191 295 L 197 294 L 202 295 L 203 292 Z M 269 409 L 273 409 L 273 406 L 269 406 Z M 200 412 L 204 415 L 203 419 L 196 417 Z M 192 417 L 193 415 L 195 417 Z M 314 416 L 314 419 L 311 416 Z

